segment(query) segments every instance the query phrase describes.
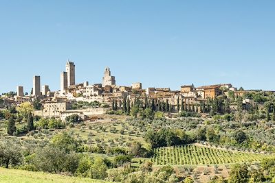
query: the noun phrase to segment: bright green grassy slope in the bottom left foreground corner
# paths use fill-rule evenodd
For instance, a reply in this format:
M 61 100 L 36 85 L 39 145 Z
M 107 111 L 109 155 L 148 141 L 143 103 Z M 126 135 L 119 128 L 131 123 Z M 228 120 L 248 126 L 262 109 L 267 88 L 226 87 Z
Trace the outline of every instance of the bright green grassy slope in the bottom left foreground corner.
M 15 169 L 0 168 L 0 182 L 5 183 L 96 183 L 104 182 L 100 180 L 91 180 L 86 178 L 74 178 L 64 175 L 53 175 L 49 173 L 21 171 Z

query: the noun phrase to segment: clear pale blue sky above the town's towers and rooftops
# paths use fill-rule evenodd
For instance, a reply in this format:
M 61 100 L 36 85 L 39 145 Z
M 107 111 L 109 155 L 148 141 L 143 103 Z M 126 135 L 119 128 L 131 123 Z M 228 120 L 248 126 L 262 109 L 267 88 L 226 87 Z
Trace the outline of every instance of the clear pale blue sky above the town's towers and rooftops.
M 59 89 L 67 58 L 76 82 L 232 83 L 275 90 L 275 1 L 0 1 L 0 93 L 32 76 Z

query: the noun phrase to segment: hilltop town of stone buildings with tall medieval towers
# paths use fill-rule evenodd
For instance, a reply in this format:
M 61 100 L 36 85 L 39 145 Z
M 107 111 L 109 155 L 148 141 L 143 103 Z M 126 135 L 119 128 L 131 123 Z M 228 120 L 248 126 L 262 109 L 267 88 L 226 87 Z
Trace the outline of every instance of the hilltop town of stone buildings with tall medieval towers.
M 111 75 L 111 70 L 107 67 L 104 70 L 101 84 L 89 84 L 83 82 L 76 84 L 76 65 L 67 60 L 65 71 L 61 72 L 60 90 L 51 91 L 48 85 L 41 88 L 41 77 L 33 77 L 33 88 L 30 95 L 24 93 L 23 86 L 17 86 L 17 93 L 14 96 L 3 95 L 5 107 L 18 106 L 24 102 L 39 101 L 42 104 L 41 110 L 36 110 L 35 115 L 40 117 L 59 117 L 65 121 L 66 117 L 78 114 L 83 120 L 89 119 L 91 115 L 106 113 L 111 106 L 115 105 L 115 110 L 122 109 L 124 101 L 129 101 L 130 108 L 137 99 L 142 103 L 153 102 L 155 108 L 164 108 L 168 104 L 168 112 L 179 112 L 182 106 L 192 109 L 196 107 L 197 112 L 202 112 L 201 106 L 209 105 L 209 100 L 220 95 L 237 99 L 244 93 L 253 90 L 239 90 L 232 84 L 213 84 L 210 86 L 195 87 L 183 85 L 179 90 L 170 88 L 142 88 L 142 83 L 133 83 L 131 86 L 117 86 L 115 76 Z M 259 90 L 254 90 L 259 91 Z M 86 106 L 86 108 L 76 109 L 76 103 L 98 102 L 96 106 Z M 253 105 L 253 101 L 246 99 L 243 103 L 247 106 Z M 163 105 L 162 105 L 163 104 Z M 113 110 L 112 108 L 112 110 Z M 234 106 L 232 107 L 234 108 Z M 194 111 L 196 112 L 196 111 Z

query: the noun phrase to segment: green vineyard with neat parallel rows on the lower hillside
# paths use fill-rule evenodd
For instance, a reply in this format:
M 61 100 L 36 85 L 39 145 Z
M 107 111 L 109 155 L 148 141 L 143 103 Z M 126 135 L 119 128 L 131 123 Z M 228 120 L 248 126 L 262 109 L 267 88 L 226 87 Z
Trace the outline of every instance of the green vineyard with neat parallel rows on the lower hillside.
M 236 162 L 258 162 L 270 155 L 235 152 L 196 145 L 162 147 L 155 149 L 153 164 L 162 165 L 198 165 L 231 164 Z

